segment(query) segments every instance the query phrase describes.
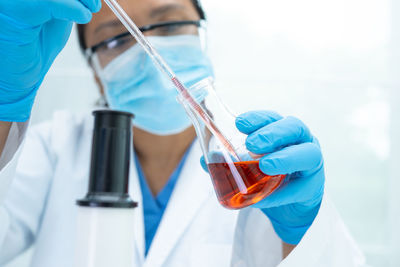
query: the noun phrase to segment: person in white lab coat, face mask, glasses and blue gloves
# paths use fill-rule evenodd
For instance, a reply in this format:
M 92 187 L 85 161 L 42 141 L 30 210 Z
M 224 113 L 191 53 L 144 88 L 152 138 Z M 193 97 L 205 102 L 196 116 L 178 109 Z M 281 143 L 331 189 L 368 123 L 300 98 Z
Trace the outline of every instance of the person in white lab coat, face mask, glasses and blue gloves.
M 120 4 L 186 85 L 213 76 L 198 34 L 205 19 L 198 2 Z M 261 170 L 290 179 L 254 207 L 224 209 L 175 90 L 107 7 L 99 0 L 12 0 L 0 1 L 1 266 L 33 244 L 31 267 L 73 265 L 75 200 L 87 189 L 92 116 L 56 113 L 25 136 L 36 92 L 73 22 L 86 24 L 79 26 L 80 44 L 104 102 L 136 116 L 135 266 L 363 264 L 324 196 L 320 147 L 300 120 L 270 111 L 237 118 L 247 148 L 268 154 Z

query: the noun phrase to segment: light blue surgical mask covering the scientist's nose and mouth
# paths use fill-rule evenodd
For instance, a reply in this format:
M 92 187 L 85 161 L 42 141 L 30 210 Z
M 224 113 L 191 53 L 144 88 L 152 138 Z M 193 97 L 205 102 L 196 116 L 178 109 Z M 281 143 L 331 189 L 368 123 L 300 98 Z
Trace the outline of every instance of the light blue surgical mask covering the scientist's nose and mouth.
M 196 35 L 148 37 L 187 88 L 213 76 L 211 62 Z M 191 125 L 177 102 L 172 82 L 138 44 L 98 70 L 108 105 L 135 114 L 133 124 L 157 135 L 182 132 Z

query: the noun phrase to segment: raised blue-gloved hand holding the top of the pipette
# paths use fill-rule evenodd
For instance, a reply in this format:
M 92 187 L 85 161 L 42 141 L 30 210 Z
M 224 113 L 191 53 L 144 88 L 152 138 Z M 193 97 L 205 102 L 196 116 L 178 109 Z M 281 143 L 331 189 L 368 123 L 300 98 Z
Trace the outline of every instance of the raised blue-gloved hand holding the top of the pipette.
M 36 91 L 71 33 L 100 0 L 0 1 L 0 121 L 26 121 Z

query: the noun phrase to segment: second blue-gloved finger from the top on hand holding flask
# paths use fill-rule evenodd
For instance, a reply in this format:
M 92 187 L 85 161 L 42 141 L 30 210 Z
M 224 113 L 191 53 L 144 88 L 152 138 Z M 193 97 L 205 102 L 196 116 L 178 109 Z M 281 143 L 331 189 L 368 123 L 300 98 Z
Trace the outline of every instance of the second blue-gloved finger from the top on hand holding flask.
M 286 117 L 251 133 L 246 139 L 246 147 L 255 154 L 266 154 L 285 146 L 311 142 L 312 139 L 310 130 L 301 120 Z

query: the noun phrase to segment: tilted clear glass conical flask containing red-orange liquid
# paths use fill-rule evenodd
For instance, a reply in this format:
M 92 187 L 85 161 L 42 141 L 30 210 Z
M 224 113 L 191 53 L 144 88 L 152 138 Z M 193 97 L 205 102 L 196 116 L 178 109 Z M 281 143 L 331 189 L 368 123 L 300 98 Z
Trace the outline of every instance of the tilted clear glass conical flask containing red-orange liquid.
M 221 205 L 228 209 L 241 209 L 274 192 L 285 175 L 269 176 L 259 169 L 258 159 L 262 155 L 246 149 L 247 136 L 236 128 L 235 116 L 218 97 L 213 79 L 206 78 L 196 83 L 189 92 L 207 113 L 207 125 L 204 114 L 198 114 L 192 103 L 183 96 L 178 96 L 178 101 L 196 129 L 204 154 L 202 164 L 208 169 Z

